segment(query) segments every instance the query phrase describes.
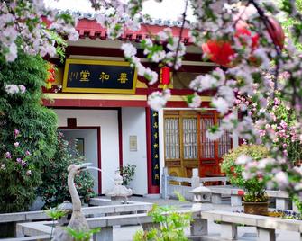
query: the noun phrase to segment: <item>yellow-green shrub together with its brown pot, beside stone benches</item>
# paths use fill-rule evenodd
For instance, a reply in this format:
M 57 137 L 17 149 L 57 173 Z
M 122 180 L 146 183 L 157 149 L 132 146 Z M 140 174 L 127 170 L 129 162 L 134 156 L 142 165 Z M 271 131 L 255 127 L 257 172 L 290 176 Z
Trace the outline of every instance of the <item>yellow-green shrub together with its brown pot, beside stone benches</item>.
M 268 156 L 268 150 L 257 145 L 236 147 L 223 156 L 222 172 L 227 175 L 231 184 L 244 190 L 245 213 L 258 215 L 268 213 L 269 198 L 265 192 L 264 177 L 257 173 L 251 175 L 245 172 L 247 169 L 261 165 L 260 160 L 269 160 Z

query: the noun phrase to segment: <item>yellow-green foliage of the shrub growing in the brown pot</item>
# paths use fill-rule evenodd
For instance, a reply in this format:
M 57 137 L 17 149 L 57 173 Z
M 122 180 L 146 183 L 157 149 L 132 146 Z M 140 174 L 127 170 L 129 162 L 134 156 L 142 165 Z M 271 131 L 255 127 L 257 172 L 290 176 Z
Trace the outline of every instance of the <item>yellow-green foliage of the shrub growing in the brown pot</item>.
M 257 162 L 269 156 L 268 150 L 257 145 L 236 147 L 228 154 L 224 154 L 221 164 L 221 171 L 227 175 L 230 183 L 247 191 L 244 194 L 244 201 L 268 201 L 265 194 L 264 177 L 255 175 L 249 179 L 243 178 L 244 165 L 235 163 L 239 156 L 250 156 L 253 161 Z

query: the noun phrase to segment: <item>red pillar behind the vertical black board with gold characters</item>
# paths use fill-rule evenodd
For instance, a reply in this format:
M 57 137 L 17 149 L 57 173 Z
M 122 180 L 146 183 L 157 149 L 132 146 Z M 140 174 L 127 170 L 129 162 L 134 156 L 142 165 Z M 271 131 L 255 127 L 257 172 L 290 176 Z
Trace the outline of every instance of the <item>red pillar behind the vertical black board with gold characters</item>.
M 146 132 L 147 132 L 147 176 L 148 176 L 148 193 L 160 193 L 160 186 L 152 185 L 152 156 L 151 156 L 151 113 L 150 107 L 146 107 Z

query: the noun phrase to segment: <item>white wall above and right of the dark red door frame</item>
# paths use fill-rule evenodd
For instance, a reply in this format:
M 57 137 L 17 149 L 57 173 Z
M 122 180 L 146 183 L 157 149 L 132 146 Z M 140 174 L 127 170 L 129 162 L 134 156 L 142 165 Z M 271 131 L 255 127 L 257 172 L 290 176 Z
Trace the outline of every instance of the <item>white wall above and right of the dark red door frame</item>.
M 59 127 L 67 126 L 67 118 L 77 118 L 78 126 L 101 127 L 102 193 L 114 187 L 112 178 L 119 166 L 118 120 L 116 110 L 55 109 Z

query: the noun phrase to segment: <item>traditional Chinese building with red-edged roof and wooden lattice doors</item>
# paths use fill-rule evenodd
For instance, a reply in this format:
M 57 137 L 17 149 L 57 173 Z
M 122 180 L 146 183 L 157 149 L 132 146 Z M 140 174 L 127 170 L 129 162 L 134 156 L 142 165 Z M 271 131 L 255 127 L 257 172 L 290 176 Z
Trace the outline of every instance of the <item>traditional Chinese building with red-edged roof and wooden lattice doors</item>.
M 44 104 L 59 116 L 59 129 L 65 138 L 78 139 L 78 150 L 87 162 L 101 168 L 96 177 L 96 192 L 104 193 L 112 187 L 114 172 L 120 165 L 136 165 L 131 184 L 134 194 L 160 193 L 162 168 L 169 174 L 189 177 L 193 168 L 200 176 L 220 174 L 221 156 L 237 138 L 224 135 L 219 141 L 206 138 L 207 127 L 219 123 L 219 114 L 209 108 L 214 93 L 202 94 L 205 110 L 190 110 L 184 101 L 189 82 L 206 73 L 215 65 L 203 62 L 201 49 L 190 44 L 188 30 L 182 41 L 187 45 L 183 66 L 172 76 L 172 97 L 167 107 L 153 112 L 147 97 L 160 90 L 160 82 L 146 85 L 135 69 L 124 61 L 120 49 L 124 41 L 138 42 L 151 33 L 170 27 L 179 35 L 180 22 L 145 22 L 141 31 L 126 31 L 120 40 L 109 40 L 106 31 L 96 23 L 93 15 L 79 15 L 79 40 L 69 42 L 66 59 L 51 58 L 56 65 L 55 82 L 45 90 Z M 138 57 L 153 70 L 160 69 L 147 63 L 142 50 Z M 61 88 L 59 86 L 62 86 Z

